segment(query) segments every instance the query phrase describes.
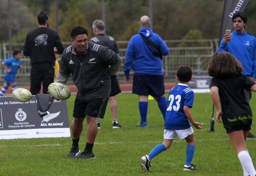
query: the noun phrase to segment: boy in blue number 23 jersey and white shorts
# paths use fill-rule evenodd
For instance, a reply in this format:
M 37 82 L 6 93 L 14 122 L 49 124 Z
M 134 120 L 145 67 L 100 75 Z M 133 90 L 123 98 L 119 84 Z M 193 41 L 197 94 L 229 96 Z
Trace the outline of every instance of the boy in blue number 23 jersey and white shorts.
M 164 141 L 158 144 L 150 151 L 148 155 L 140 159 L 142 162 L 142 170 L 149 171 L 150 161 L 162 151 L 169 149 L 174 138 L 179 137 L 187 141 L 186 163 L 183 167 L 184 171 L 199 170 L 192 165 L 192 159 L 195 152 L 194 130 L 190 123 L 197 129 L 201 129 L 202 125 L 192 117 L 189 108 L 192 108 L 194 92 L 188 87 L 188 83 L 192 80 L 192 70 L 187 65 L 182 65 L 177 70 L 177 80 L 179 83 L 172 88 L 168 96 L 167 109 L 164 122 Z

